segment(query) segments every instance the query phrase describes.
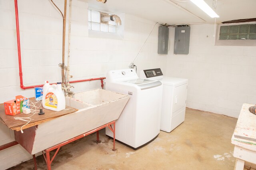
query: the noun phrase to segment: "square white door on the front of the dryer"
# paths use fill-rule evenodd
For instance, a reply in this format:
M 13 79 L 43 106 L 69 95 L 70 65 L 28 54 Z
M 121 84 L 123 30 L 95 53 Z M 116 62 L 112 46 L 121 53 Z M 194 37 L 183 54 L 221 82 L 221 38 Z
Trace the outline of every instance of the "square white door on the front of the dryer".
M 173 113 L 186 106 L 187 85 L 186 83 L 174 88 Z

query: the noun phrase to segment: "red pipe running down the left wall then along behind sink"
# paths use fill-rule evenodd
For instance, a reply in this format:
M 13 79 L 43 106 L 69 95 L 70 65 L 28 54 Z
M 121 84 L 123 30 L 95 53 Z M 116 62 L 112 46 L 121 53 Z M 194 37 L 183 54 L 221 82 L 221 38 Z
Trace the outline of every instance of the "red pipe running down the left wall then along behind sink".
M 36 85 L 36 86 L 23 86 L 23 78 L 22 78 L 22 65 L 21 65 L 21 53 L 20 53 L 20 27 L 19 27 L 19 16 L 18 16 L 18 3 L 17 0 L 14 0 L 15 5 L 15 17 L 16 17 L 16 33 L 17 33 L 17 45 L 18 45 L 18 60 L 19 60 L 19 74 L 20 74 L 20 88 L 27 89 L 27 88 L 35 88 L 35 87 L 42 87 L 44 84 Z M 100 77 L 100 78 L 90 78 L 90 79 L 84 79 L 84 80 L 74 80 L 70 81 L 69 83 L 76 83 L 76 82 L 86 82 L 86 81 L 92 81 L 92 80 L 101 80 L 101 87 L 103 89 L 103 79 L 106 77 Z M 52 83 L 54 84 L 54 83 Z

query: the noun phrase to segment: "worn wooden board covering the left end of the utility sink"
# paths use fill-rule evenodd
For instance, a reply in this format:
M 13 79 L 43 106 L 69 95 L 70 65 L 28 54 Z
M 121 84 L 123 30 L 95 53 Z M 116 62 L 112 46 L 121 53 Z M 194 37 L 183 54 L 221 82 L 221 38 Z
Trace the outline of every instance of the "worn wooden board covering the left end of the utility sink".
M 35 100 L 31 100 L 33 103 L 37 102 Z M 40 106 L 41 101 L 38 102 L 36 104 L 36 106 Z M 28 125 L 24 126 L 22 129 L 27 129 L 28 127 L 32 127 L 34 125 L 38 125 L 40 123 L 43 123 L 45 121 L 49 121 L 51 119 L 55 119 L 56 117 L 62 116 L 62 115 L 66 115 L 69 113 L 73 113 L 75 111 L 78 111 L 78 109 L 74 109 L 72 107 L 66 106 L 66 108 L 62 111 L 52 111 L 52 110 L 48 110 L 48 109 L 44 109 L 42 106 L 40 106 L 38 108 L 39 109 L 42 108 L 44 111 L 44 115 L 38 115 L 36 114 L 24 114 L 24 113 L 19 113 L 17 115 L 6 115 L 5 111 L 4 111 L 4 104 L 0 104 L 0 123 L 5 124 L 7 127 L 9 127 L 12 130 L 16 130 L 16 131 L 20 131 L 20 127 L 22 127 L 22 125 L 25 125 L 27 122 L 26 121 L 21 121 L 21 120 L 15 120 L 14 117 L 30 117 L 31 115 L 33 115 L 31 118 L 30 123 L 28 123 Z

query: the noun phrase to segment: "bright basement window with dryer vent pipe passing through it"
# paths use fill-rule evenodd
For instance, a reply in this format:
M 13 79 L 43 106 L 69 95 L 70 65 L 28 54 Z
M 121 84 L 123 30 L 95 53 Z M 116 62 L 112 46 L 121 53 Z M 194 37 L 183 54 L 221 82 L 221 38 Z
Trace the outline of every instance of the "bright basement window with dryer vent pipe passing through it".
M 93 31 L 102 31 L 109 33 L 116 33 L 116 22 L 101 20 L 102 15 L 112 15 L 106 14 L 99 11 L 88 10 L 88 29 Z

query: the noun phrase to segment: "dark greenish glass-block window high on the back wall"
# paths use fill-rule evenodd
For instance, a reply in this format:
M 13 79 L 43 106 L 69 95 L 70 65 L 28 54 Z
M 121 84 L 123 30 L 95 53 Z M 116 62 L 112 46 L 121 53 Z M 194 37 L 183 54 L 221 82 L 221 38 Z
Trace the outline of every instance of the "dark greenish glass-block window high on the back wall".
M 256 39 L 256 24 L 220 26 L 220 40 Z

